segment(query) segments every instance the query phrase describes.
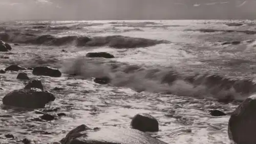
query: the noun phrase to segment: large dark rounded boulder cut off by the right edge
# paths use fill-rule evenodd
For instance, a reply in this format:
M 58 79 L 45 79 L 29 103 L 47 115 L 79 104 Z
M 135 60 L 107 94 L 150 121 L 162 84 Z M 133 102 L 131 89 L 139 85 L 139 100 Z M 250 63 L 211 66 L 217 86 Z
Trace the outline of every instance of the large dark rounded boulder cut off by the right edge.
M 237 144 L 256 143 L 256 95 L 251 95 L 236 110 L 228 122 L 228 137 Z

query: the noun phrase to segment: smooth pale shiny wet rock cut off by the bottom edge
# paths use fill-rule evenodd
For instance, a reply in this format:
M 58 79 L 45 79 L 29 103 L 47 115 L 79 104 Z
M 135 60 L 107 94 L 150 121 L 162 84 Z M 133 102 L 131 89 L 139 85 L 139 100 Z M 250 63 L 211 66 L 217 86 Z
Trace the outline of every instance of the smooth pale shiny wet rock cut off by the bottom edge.
M 80 125 L 60 141 L 62 144 L 167 144 L 144 132 L 117 127 L 92 130 Z

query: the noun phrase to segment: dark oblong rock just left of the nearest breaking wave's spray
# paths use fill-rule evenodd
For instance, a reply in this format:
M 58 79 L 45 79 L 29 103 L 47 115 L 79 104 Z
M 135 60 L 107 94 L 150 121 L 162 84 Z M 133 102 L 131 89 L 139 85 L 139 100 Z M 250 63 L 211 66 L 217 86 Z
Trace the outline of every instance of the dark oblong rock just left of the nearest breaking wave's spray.
M 49 66 L 37 66 L 32 71 L 35 76 L 61 77 L 61 72 Z

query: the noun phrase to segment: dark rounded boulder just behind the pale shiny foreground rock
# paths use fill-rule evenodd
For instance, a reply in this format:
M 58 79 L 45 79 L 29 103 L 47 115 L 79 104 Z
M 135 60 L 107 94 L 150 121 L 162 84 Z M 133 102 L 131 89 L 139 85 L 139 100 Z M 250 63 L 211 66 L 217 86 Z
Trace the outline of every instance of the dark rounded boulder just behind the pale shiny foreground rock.
M 142 132 L 159 131 L 157 119 L 147 113 L 136 114 L 132 119 L 131 127 Z

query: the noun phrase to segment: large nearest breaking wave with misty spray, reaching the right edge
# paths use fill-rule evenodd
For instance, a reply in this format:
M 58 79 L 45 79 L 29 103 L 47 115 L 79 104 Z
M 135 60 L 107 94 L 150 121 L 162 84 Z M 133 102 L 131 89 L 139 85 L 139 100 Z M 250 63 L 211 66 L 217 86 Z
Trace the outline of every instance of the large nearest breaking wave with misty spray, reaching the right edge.
M 256 84 L 251 80 L 234 80 L 216 74 L 188 76 L 174 68 L 146 68 L 102 59 L 76 58 L 66 62 L 64 69 L 67 74 L 81 79 L 107 76 L 112 79 L 112 85 L 137 92 L 171 93 L 223 103 L 242 101 L 256 92 Z

